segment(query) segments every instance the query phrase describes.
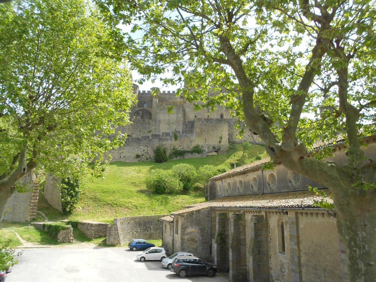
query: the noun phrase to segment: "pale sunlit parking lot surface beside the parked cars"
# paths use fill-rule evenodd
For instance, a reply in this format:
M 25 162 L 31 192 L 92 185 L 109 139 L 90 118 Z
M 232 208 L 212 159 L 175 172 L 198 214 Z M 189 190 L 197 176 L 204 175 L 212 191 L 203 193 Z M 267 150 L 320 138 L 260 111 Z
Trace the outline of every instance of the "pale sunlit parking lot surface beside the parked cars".
M 161 266 L 160 261 L 139 262 L 136 254 L 124 247 L 76 246 L 24 249 L 18 264 L 6 282 L 54 281 L 228 281 L 228 273 L 213 278 L 191 276 L 180 278 Z

